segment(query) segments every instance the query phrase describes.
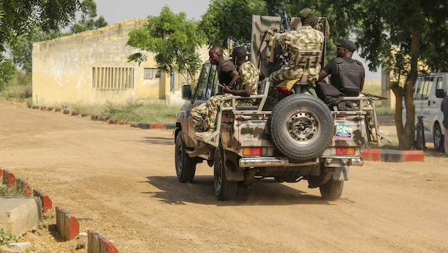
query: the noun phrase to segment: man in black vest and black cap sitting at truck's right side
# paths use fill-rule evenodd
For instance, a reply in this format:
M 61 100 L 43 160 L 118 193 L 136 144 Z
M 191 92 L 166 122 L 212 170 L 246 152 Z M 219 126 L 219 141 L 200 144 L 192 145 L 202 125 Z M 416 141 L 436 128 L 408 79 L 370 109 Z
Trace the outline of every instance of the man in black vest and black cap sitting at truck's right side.
M 353 60 L 356 45 L 353 41 L 345 40 L 335 43 L 338 47 L 337 58 L 331 60 L 320 72 L 320 82 L 327 75 L 331 75 L 330 83 L 347 97 L 358 97 L 363 90 L 366 72 L 359 60 Z

